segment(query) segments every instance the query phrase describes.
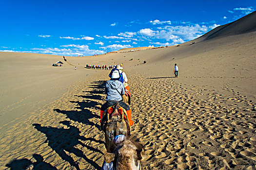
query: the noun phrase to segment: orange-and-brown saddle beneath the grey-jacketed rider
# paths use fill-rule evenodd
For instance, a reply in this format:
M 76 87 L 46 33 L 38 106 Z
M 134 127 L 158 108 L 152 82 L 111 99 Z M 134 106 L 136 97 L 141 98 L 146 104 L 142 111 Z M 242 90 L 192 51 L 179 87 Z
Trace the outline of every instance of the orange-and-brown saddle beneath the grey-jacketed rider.
M 117 119 L 112 119 L 113 117 L 117 117 Z M 118 119 L 118 117 L 120 118 Z M 129 135 L 131 134 L 131 126 L 129 124 L 126 110 L 119 106 L 119 103 L 115 103 L 113 106 L 110 106 L 105 110 L 103 117 L 101 118 L 100 129 L 103 132 L 106 132 L 106 125 L 114 121 L 125 121 L 127 133 Z

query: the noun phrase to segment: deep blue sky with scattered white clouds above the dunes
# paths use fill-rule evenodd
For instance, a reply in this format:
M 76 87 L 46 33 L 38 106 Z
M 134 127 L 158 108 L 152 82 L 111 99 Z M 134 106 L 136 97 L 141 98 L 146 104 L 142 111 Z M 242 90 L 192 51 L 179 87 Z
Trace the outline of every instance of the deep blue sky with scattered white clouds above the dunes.
M 1 0 L 0 51 L 65 56 L 180 44 L 256 0 Z

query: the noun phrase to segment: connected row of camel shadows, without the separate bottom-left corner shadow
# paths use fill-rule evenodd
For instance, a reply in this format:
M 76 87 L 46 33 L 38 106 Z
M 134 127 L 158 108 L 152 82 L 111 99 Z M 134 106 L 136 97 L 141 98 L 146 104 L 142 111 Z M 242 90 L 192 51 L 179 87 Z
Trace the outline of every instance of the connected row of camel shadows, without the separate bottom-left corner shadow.
M 96 109 L 100 110 L 100 107 L 98 106 L 98 101 L 102 100 L 102 97 L 100 94 L 104 93 L 104 85 L 106 81 L 94 81 L 89 86 L 92 90 L 90 91 L 83 91 L 86 92 L 86 95 L 75 95 L 76 97 L 82 97 L 85 100 L 82 102 L 79 101 L 70 101 L 72 103 L 77 103 L 77 106 L 74 107 L 76 110 L 60 110 L 60 109 L 54 109 L 54 111 L 66 115 L 66 118 L 71 119 L 73 121 L 77 121 L 79 123 L 83 123 L 84 125 L 89 125 L 91 128 L 98 128 L 100 129 L 100 126 L 92 121 L 90 119 L 97 118 L 99 119 L 99 115 L 97 113 L 93 113 L 90 111 L 90 109 Z M 35 128 L 41 132 L 44 133 L 47 137 L 45 142 L 48 142 L 48 146 L 50 146 L 56 153 L 59 154 L 59 156 L 67 161 L 71 166 L 74 166 L 77 170 L 79 170 L 78 163 L 75 162 L 75 160 L 70 156 L 70 154 L 67 153 L 73 153 L 78 157 L 83 158 L 85 161 L 87 161 L 89 164 L 91 164 L 94 169 L 100 170 L 99 165 L 94 162 L 92 159 L 88 158 L 81 150 L 76 148 L 78 144 L 82 147 L 86 147 L 88 150 L 91 150 L 93 152 L 98 152 L 100 154 L 103 154 L 100 150 L 97 148 L 94 148 L 89 145 L 85 145 L 81 141 L 94 141 L 99 144 L 104 144 L 103 141 L 97 140 L 93 137 L 84 137 L 80 136 L 80 131 L 77 127 L 72 126 L 71 122 L 69 121 L 61 121 L 59 123 L 62 123 L 64 125 L 67 125 L 68 129 L 63 128 L 56 128 L 56 127 L 43 127 L 40 124 L 33 124 Z M 80 141 L 81 140 L 81 141 Z

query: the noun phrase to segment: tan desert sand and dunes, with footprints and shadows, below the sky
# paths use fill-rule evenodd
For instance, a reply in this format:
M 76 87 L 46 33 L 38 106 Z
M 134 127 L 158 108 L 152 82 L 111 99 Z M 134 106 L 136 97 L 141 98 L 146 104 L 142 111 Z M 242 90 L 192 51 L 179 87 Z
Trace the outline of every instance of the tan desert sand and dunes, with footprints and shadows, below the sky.
M 255 21 L 256 12 L 178 47 L 68 62 L 1 52 L 0 169 L 99 170 L 106 152 L 99 108 L 109 70 L 84 66 L 122 63 L 132 134 L 145 150 L 142 170 L 255 170 Z M 57 61 L 63 67 L 51 66 Z

